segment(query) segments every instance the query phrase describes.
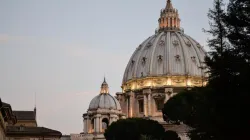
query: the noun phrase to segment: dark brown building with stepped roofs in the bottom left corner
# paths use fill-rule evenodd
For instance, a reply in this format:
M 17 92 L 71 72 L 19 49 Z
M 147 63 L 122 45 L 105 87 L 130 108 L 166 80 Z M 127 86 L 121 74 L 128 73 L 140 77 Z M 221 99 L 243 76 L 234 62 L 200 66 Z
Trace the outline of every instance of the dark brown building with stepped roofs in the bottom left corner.
M 0 140 L 59 140 L 61 132 L 37 126 L 34 111 L 12 111 L 0 99 Z

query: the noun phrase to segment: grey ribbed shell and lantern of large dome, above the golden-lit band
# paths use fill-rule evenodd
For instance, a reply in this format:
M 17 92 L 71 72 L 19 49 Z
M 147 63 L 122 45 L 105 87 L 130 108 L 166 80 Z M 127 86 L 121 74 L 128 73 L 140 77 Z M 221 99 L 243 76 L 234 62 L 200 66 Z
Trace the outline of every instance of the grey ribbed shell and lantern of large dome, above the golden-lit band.
M 164 22 L 167 21 L 166 16 L 172 19 L 172 14 L 169 13 L 177 12 L 168 9 L 173 9 L 170 0 L 167 1 L 167 7 L 161 14 Z M 178 16 L 176 13 L 176 18 Z M 201 69 L 206 56 L 205 50 L 196 40 L 185 34 L 184 30 L 171 27 L 176 26 L 175 23 L 176 21 L 172 24 L 162 24 L 164 29 L 156 31 L 154 35 L 138 45 L 125 69 L 123 85 L 130 80 L 148 77 L 203 77 L 205 75 L 204 70 Z M 144 83 L 144 85 L 147 84 L 151 85 Z

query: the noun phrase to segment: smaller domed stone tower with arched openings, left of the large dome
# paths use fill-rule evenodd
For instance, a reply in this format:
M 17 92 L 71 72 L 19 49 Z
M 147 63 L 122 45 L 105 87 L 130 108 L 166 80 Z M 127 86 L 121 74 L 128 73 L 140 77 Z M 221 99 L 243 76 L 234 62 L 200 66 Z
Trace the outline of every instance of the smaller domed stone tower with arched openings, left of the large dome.
M 100 94 L 94 97 L 87 113 L 83 114 L 84 133 L 71 135 L 71 140 L 105 139 L 105 129 L 118 119 L 125 118 L 118 100 L 109 94 L 109 87 L 104 78 Z

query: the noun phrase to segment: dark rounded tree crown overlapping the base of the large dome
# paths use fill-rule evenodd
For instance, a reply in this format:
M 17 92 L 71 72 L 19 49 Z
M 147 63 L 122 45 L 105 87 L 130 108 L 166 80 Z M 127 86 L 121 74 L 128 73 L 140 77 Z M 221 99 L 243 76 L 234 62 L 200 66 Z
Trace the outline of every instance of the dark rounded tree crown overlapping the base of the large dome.
M 164 105 L 163 114 L 167 116 L 166 119 L 168 120 L 181 121 L 194 128 L 211 125 L 209 118 L 214 114 L 215 108 L 215 105 L 212 105 L 211 102 L 213 92 L 208 88 L 194 88 L 183 91 L 172 97 Z

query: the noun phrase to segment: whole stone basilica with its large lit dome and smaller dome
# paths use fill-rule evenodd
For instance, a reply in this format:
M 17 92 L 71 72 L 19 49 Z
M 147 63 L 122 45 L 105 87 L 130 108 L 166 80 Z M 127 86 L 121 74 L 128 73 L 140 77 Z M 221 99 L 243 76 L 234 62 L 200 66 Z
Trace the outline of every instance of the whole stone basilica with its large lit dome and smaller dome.
M 171 0 L 160 11 L 159 27 L 131 56 L 122 80 L 122 92 L 109 94 L 104 79 L 100 93 L 83 114 L 84 133 L 72 140 L 105 139 L 105 129 L 118 119 L 144 117 L 158 121 L 187 139 L 188 127 L 163 120 L 164 104 L 180 91 L 206 85 L 203 47 L 180 27 L 180 17 Z

